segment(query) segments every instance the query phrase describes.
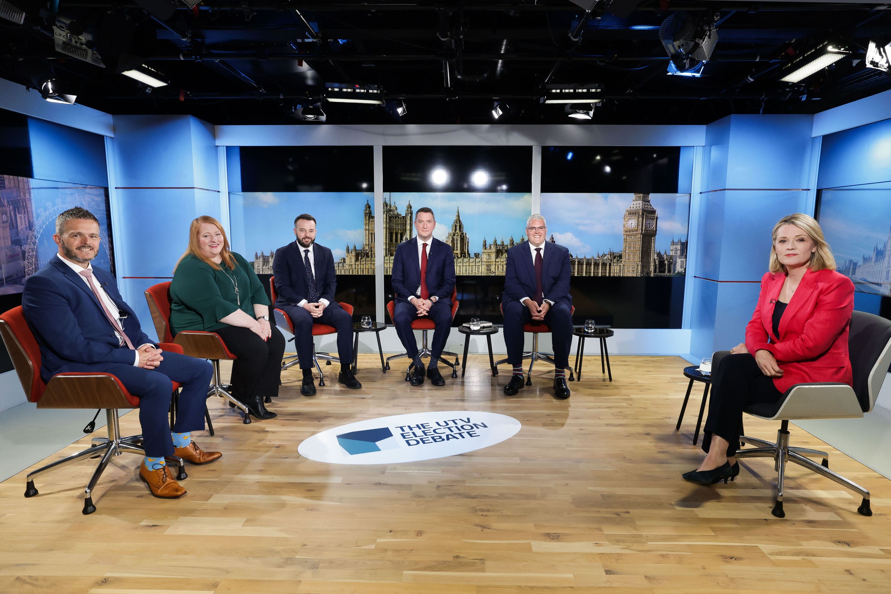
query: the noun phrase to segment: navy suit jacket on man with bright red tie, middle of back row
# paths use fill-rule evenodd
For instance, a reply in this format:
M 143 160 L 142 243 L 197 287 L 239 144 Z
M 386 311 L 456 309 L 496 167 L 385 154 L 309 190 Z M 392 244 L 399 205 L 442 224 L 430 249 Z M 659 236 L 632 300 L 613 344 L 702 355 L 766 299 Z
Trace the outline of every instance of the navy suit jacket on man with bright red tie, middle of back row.
M 454 291 L 454 253 L 452 246 L 431 238 L 427 252 L 427 290 L 430 297 L 451 299 Z M 393 256 L 393 290 L 396 300 L 412 297 L 421 285 L 421 262 L 418 259 L 418 238 L 396 246 Z

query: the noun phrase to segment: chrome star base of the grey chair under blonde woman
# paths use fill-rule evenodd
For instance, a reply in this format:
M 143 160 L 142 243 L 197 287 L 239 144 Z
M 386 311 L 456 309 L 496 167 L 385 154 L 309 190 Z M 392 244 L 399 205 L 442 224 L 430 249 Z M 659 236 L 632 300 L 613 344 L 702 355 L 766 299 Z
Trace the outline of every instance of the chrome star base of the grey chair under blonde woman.
M 740 444 L 750 443 L 758 447 L 748 448 L 746 450 L 737 450 L 737 458 L 772 458 L 773 469 L 777 471 L 777 495 L 775 505 L 771 513 L 775 517 L 786 517 L 786 512 L 782 509 L 783 491 L 785 483 L 786 465 L 789 462 L 795 462 L 798 466 L 803 466 L 820 476 L 825 476 L 831 481 L 847 487 L 851 491 L 860 495 L 863 499 L 857 513 L 862 516 L 871 516 L 870 509 L 870 492 L 859 484 L 854 483 L 844 476 L 830 470 L 830 455 L 828 452 L 820 450 L 812 450 L 810 448 L 797 448 L 789 445 L 789 421 L 782 421 L 780 430 L 777 431 L 777 442 L 765 442 L 763 439 L 755 437 L 740 436 Z M 813 458 L 822 458 L 822 463 L 817 464 L 813 460 L 805 458 L 811 456 Z

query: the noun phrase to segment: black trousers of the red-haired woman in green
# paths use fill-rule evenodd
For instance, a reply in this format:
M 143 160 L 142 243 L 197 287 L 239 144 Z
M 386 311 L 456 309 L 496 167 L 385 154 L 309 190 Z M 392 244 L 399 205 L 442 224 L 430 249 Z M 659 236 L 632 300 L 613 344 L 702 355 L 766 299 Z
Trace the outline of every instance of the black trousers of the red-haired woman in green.
M 264 340 L 247 328 L 228 326 L 214 330 L 238 359 L 232 362 L 233 396 L 241 402 L 277 396 L 282 377 L 284 337 L 273 326 Z

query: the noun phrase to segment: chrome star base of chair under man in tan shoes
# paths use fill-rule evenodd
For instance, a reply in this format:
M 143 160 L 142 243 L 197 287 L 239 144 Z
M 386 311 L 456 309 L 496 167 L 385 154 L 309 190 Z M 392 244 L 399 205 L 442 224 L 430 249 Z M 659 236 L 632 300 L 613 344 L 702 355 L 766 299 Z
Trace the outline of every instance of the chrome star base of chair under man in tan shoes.
M 72 462 L 77 462 L 82 458 L 98 458 L 99 456 L 102 456 L 102 460 L 99 460 L 99 466 L 94 470 L 93 476 L 90 478 L 90 482 L 86 485 L 86 489 L 84 490 L 83 514 L 85 516 L 92 514 L 96 510 L 96 506 L 93 503 L 93 491 L 96 488 L 96 484 L 99 483 L 99 479 L 102 477 L 105 468 L 108 467 L 111 457 L 119 456 L 124 452 L 145 456 L 145 448 L 143 448 L 141 444 L 143 441 L 142 435 L 132 435 L 129 437 L 120 436 L 117 410 L 106 409 L 105 418 L 108 423 L 108 437 L 94 437 L 91 440 L 91 442 L 94 443 L 92 447 L 29 472 L 26 477 L 28 483 L 25 485 L 25 497 L 34 497 L 38 494 L 37 487 L 34 486 L 34 479 L 37 476 L 42 476 L 53 472 L 53 470 L 66 467 Z M 168 456 L 166 460 L 175 463 L 179 468 L 179 472 L 176 475 L 177 481 L 185 480 L 188 477 L 188 475 L 185 474 L 185 464 L 182 458 L 179 458 L 178 456 Z

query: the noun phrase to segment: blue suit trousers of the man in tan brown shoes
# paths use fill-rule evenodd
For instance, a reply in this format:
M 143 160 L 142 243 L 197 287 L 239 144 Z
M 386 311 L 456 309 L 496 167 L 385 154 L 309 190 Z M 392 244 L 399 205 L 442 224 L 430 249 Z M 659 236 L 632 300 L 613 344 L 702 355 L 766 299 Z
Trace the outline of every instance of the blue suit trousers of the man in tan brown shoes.
M 93 371 L 110 373 L 119 378 L 130 394 L 139 396 L 139 423 L 143 426 L 145 455 L 161 458 L 173 455 L 168 419 L 173 393 L 170 381 L 183 385 L 173 430 L 176 433 L 201 431 L 204 429 L 204 401 L 214 374 L 213 365 L 204 359 L 168 351 L 164 352 L 163 357 L 164 361 L 153 370 L 127 363 L 71 363 L 56 373 Z

